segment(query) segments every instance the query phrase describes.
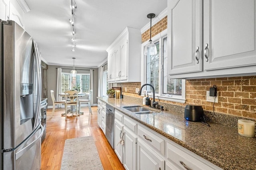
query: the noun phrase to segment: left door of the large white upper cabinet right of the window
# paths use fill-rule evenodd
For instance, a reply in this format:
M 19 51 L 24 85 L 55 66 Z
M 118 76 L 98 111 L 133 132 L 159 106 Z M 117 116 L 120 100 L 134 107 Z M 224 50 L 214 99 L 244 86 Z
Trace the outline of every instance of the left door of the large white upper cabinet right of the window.
M 201 38 L 202 0 L 168 1 L 169 74 L 202 71 Z

